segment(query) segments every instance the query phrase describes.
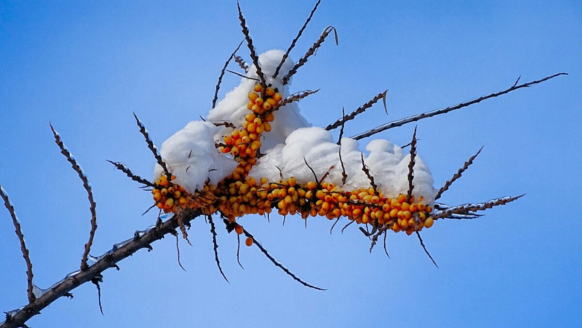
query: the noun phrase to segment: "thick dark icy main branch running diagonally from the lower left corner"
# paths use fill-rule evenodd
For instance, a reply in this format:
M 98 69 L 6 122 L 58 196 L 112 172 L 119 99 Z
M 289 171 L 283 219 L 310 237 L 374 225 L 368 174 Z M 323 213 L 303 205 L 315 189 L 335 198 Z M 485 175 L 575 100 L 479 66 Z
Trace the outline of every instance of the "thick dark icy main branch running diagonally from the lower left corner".
M 69 274 L 66 278 L 52 285 L 48 291 L 44 292 L 42 296 L 34 299 L 29 304 L 24 306 L 15 314 L 6 316 L 6 321 L 0 325 L 0 328 L 17 328 L 23 327 L 33 316 L 40 314 L 42 309 L 46 308 L 52 302 L 61 297 L 72 297 L 70 291 L 79 287 L 84 283 L 88 283 L 95 277 L 100 277 L 101 274 L 112 267 L 116 267 L 118 262 L 132 256 L 140 249 L 151 249 L 151 244 L 159 239 L 162 239 L 171 231 L 175 231 L 178 227 L 178 218 L 189 224 L 194 218 L 201 215 L 198 210 L 184 209 L 174 217 L 169 218 L 162 223 L 150 227 L 145 231 L 135 234 L 135 237 L 126 242 L 120 243 L 108 252 L 107 256 L 102 256 L 96 263 L 90 265 L 87 270 L 79 270 Z M 119 244 L 118 244 L 119 245 Z

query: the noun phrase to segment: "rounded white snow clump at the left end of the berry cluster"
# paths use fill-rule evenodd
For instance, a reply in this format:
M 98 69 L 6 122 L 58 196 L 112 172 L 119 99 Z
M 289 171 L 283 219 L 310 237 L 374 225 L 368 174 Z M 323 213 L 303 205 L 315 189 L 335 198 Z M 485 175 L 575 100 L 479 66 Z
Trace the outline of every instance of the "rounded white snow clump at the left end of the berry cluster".
M 209 122 L 192 121 L 162 143 L 160 153 L 168 163 L 168 170 L 187 192 L 201 189 L 208 180 L 210 184 L 218 184 L 238 165 L 216 149 L 214 135 L 218 130 Z M 162 174 L 164 171 L 156 164 L 154 181 Z

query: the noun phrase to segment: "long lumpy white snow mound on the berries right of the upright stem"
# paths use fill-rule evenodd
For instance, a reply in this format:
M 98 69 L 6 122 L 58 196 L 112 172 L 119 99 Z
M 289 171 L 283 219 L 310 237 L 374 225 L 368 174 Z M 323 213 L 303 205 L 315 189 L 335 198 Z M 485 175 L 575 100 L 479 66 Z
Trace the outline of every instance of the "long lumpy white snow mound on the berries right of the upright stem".
M 386 197 L 406 194 L 409 188 L 407 176 L 410 154 L 387 140 L 379 139 L 368 143 L 366 150 L 370 154 L 364 154 L 364 163 L 380 191 Z M 295 177 L 299 183 L 314 181 L 313 172 L 305 163 L 307 161 L 318 179 L 329 171 L 325 181 L 342 186 L 345 191 L 369 188 L 371 184 L 362 170 L 361 156 L 356 140 L 342 138 L 342 161 L 347 174 L 346 184 L 342 186 L 339 146 L 332 139 L 331 133 L 318 127 L 301 128 L 291 133 L 285 144 L 280 144 L 261 157 L 249 175 L 255 179 L 267 177 L 269 181 L 278 181 L 280 174 L 283 178 Z M 433 182 L 427 165 L 416 156 L 413 195 L 424 196 L 425 203 L 432 203 L 437 193 L 432 186 Z

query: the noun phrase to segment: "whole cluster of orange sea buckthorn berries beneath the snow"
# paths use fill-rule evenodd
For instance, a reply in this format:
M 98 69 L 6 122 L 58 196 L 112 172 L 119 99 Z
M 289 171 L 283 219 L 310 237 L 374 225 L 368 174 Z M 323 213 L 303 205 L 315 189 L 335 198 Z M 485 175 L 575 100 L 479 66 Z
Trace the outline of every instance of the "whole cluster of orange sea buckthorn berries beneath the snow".
M 277 209 L 282 216 L 299 213 L 304 219 L 322 216 L 329 220 L 347 217 L 358 224 L 371 224 L 394 232 L 405 231 L 409 235 L 432 227 L 432 207 L 423 202 L 423 197 L 415 199 L 403 194 L 385 197 L 374 188 L 343 191 L 325 181 L 298 184 L 294 177 L 277 182 L 267 178 L 255 181 L 249 177 L 261 147 L 260 135 L 271 131 L 269 122 L 274 121 L 273 112 L 281 100 L 282 95 L 276 89 L 263 89 L 256 84 L 249 92 L 247 108 L 251 112 L 246 115 L 242 128 L 225 136 L 221 146 L 222 153 L 232 154 L 239 163 L 235 171 L 217 186 L 205 185 L 193 194 L 184 192 L 182 186 L 162 175 L 156 182 L 157 188 L 152 191 L 159 209 L 166 213 L 176 213 L 187 207 L 200 209 L 208 215 L 220 212 L 232 224 L 245 214 L 264 215 Z M 235 232 L 243 234 L 243 227 L 236 224 Z M 253 239 L 247 238 L 246 245 L 252 244 Z

